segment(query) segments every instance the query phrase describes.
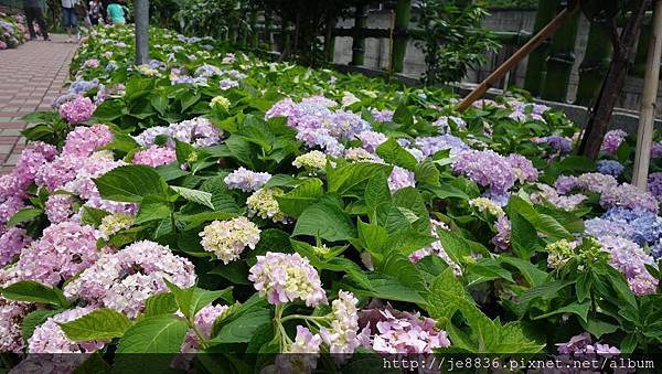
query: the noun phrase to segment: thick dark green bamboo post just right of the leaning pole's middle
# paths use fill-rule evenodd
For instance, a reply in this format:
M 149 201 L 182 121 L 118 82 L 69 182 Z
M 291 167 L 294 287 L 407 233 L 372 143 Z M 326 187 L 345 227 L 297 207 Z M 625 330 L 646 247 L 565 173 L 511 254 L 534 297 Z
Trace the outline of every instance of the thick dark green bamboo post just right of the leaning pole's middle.
M 568 84 L 575 64 L 575 42 L 577 41 L 578 24 L 579 12 L 570 17 L 552 38 L 547 74 L 542 93 L 545 99 L 562 103 L 567 100 Z

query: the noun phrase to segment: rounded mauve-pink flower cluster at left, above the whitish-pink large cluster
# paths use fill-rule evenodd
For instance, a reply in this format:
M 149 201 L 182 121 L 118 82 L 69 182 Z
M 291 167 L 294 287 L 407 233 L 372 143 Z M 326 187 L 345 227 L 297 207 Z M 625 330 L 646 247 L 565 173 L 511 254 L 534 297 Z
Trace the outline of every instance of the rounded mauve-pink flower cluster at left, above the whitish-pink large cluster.
M 57 285 L 92 266 L 99 257 L 97 233 L 90 226 L 63 222 L 46 227 L 43 236 L 21 252 L 17 280 Z

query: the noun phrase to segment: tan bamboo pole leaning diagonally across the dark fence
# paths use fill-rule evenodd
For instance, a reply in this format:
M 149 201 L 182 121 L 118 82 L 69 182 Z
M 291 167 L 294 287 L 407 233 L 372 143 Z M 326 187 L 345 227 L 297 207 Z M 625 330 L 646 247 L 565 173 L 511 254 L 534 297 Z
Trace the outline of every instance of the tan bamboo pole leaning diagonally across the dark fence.
M 478 87 L 476 87 L 465 99 L 458 105 L 457 110 L 463 111 L 467 109 L 473 101 L 479 99 L 484 93 L 492 87 L 496 82 L 499 82 L 505 73 L 510 72 L 516 64 L 519 64 L 531 51 L 535 50 L 541 43 L 547 39 L 547 36 L 552 35 L 560 25 L 564 23 L 566 19 L 572 17 L 578 7 L 575 7 L 573 10 L 564 9 L 558 15 L 556 15 L 552 22 L 547 23 L 537 34 L 535 34 L 526 44 L 522 45 L 520 50 L 517 50 L 510 58 L 508 58 L 501 66 L 499 66 L 490 76 L 488 76 Z

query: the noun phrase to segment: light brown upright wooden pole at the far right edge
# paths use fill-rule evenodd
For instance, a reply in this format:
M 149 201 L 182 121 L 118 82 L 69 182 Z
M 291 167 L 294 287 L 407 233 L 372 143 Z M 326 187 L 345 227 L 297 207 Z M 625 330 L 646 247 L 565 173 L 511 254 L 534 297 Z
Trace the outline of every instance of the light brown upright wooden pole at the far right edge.
M 655 119 L 655 104 L 658 103 L 658 85 L 660 83 L 660 57 L 662 56 L 662 0 L 655 0 L 653 23 L 651 29 L 651 43 L 649 46 L 648 66 L 643 79 L 643 95 L 641 97 L 641 115 L 639 117 L 639 131 L 637 133 L 637 153 L 634 156 L 634 170 L 632 182 L 640 190 L 645 191 L 648 185 L 648 170 L 651 160 L 651 145 L 653 142 L 653 122 Z

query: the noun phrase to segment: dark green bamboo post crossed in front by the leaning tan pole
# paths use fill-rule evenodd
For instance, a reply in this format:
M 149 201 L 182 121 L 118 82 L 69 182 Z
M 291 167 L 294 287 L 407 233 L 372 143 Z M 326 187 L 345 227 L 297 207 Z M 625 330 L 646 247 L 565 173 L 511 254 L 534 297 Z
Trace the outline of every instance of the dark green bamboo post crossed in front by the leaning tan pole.
M 537 13 L 535 15 L 535 24 L 533 34 L 543 30 L 543 28 L 554 19 L 559 0 L 538 0 Z M 545 71 L 545 58 L 549 43 L 544 41 L 541 46 L 535 49 L 528 55 L 526 64 L 526 75 L 524 78 L 524 89 L 528 90 L 533 96 L 538 96 L 543 88 L 543 73 Z

